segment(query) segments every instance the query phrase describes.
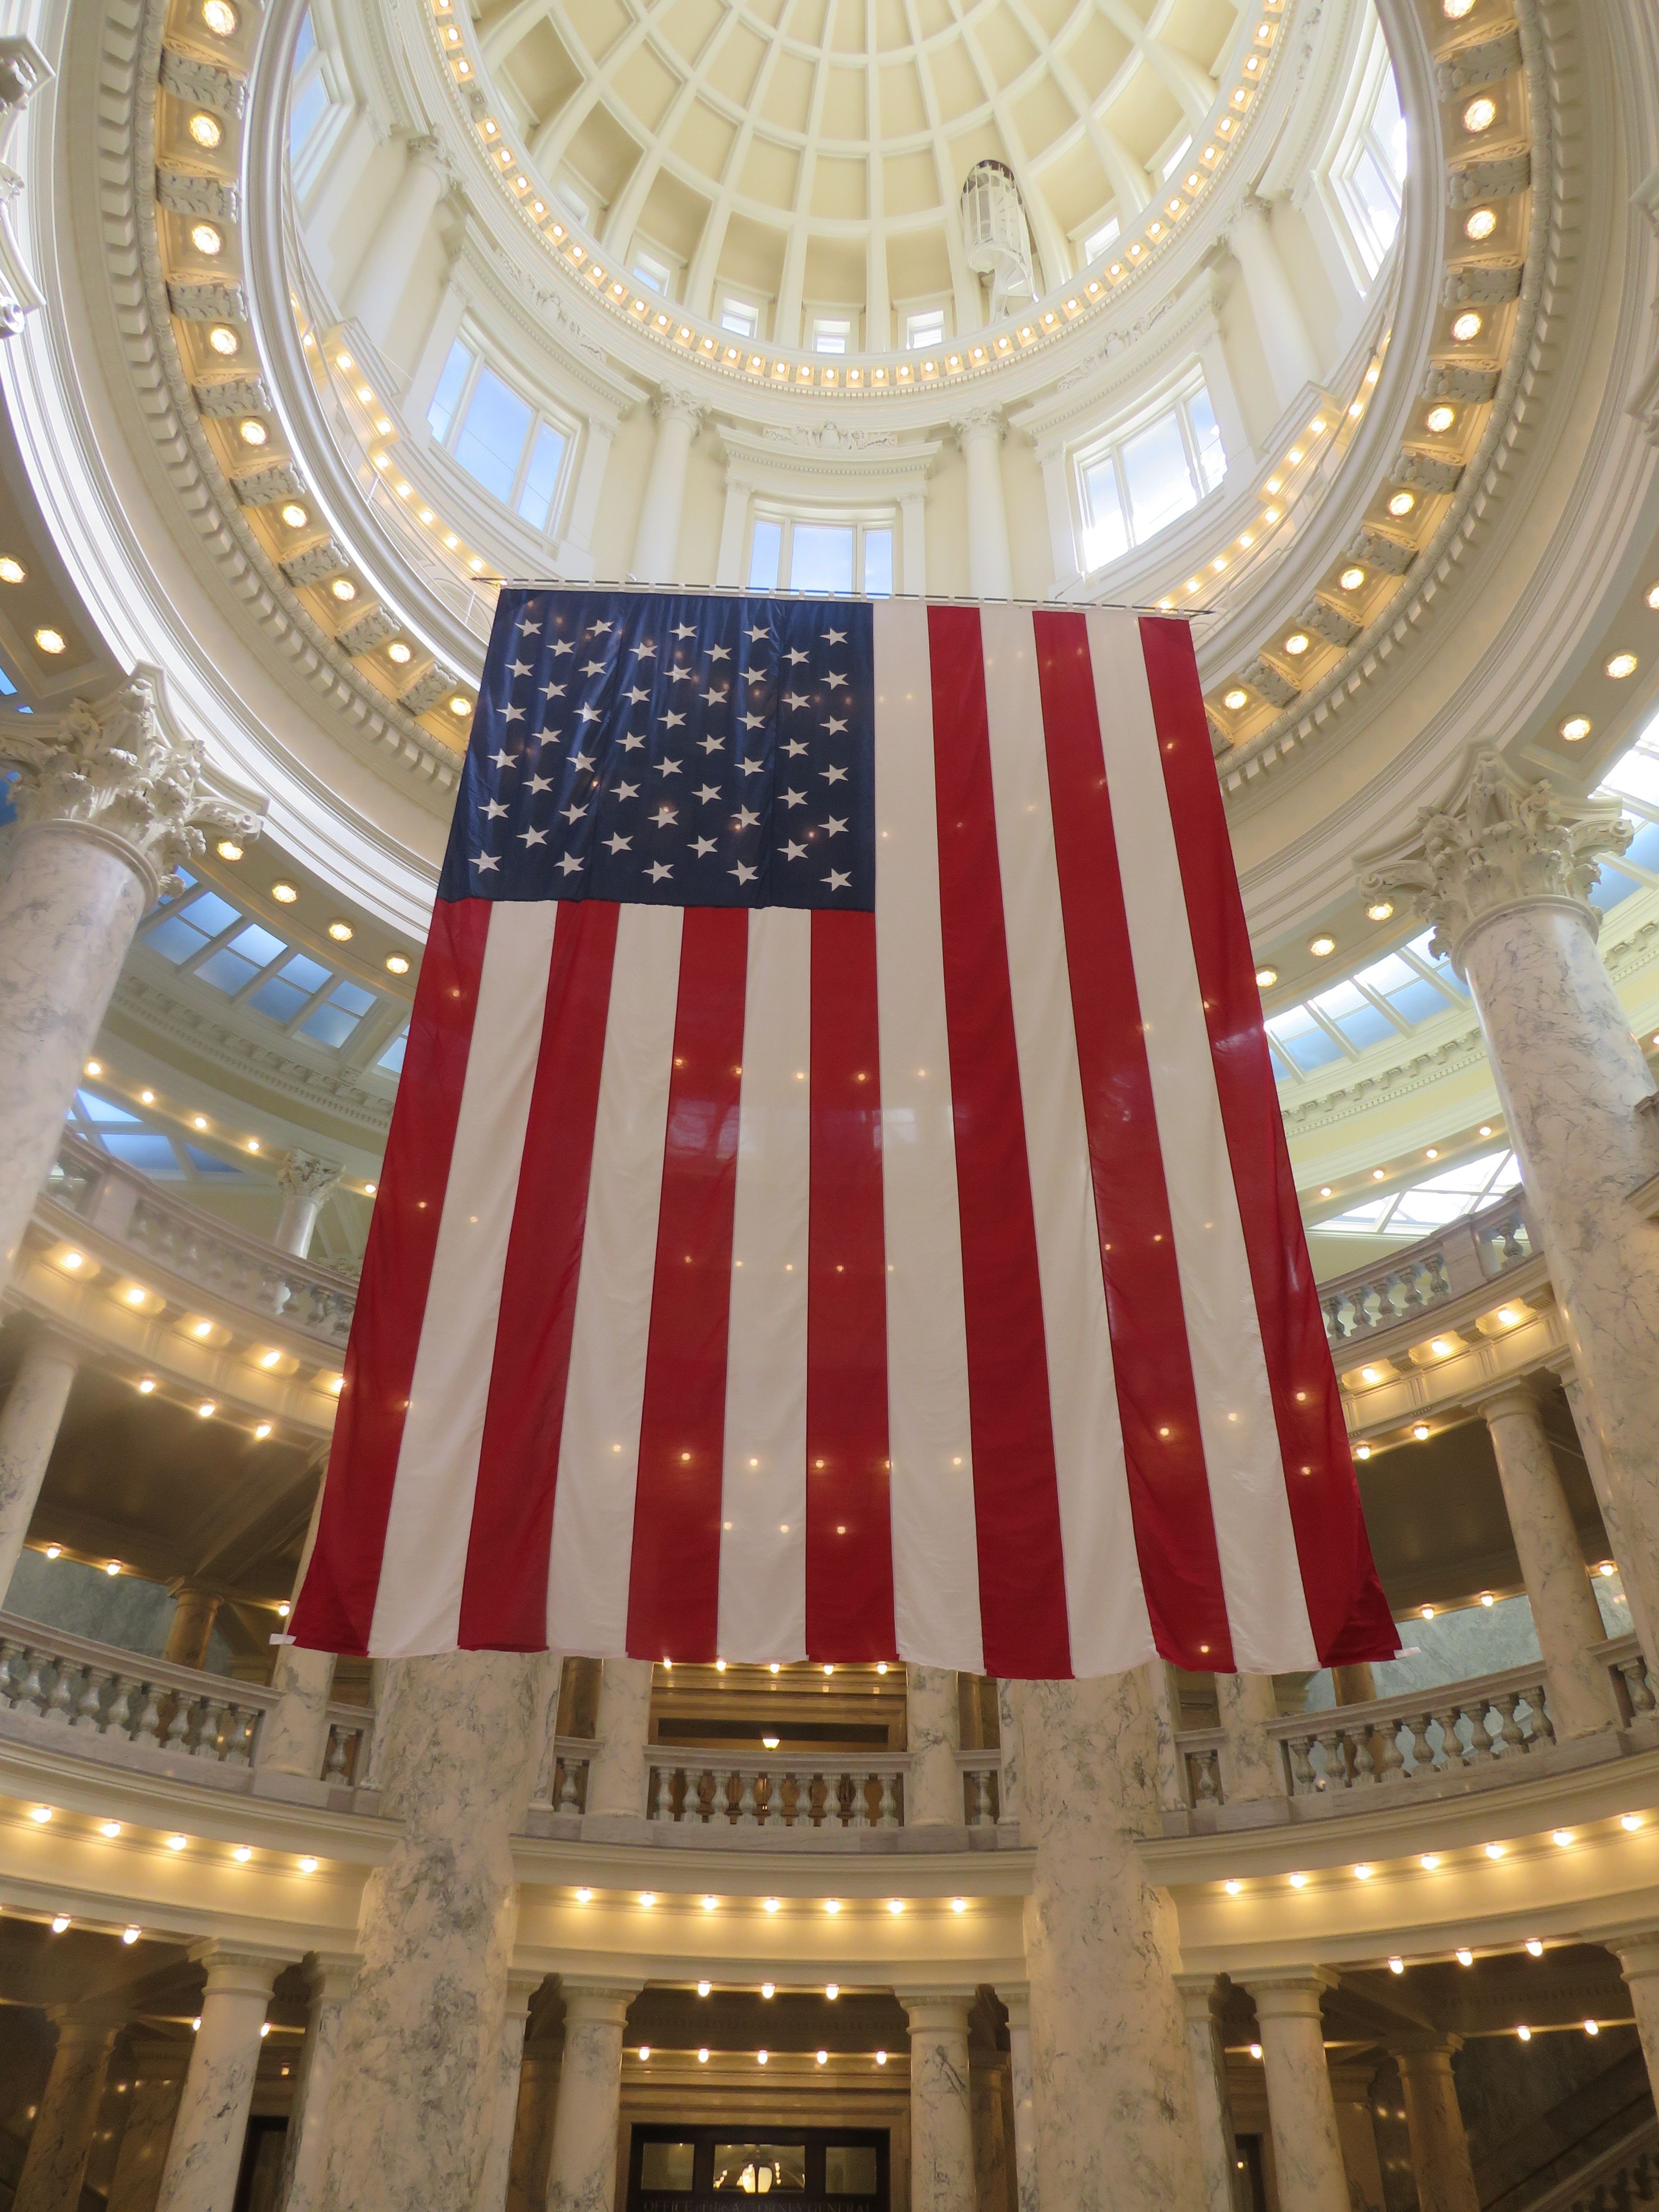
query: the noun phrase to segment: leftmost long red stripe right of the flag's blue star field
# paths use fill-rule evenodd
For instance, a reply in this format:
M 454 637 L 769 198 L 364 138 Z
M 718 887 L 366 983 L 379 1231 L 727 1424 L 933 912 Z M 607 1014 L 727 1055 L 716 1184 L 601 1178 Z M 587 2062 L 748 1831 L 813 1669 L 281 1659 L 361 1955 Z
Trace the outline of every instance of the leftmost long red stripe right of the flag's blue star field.
M 978 608 L 929 606 L 927 639 L 984 1668 L 1066 1677 L 1060 1484 Z

